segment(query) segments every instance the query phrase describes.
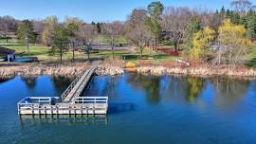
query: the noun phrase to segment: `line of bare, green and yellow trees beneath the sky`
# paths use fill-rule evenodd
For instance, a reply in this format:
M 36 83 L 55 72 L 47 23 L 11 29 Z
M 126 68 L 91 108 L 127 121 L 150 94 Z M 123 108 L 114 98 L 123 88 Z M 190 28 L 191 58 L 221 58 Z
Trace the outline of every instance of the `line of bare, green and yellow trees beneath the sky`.
M 195 61 L 237 64 L 246 61 L 251 41 L 256 38 L 256 12 L 249 0 L 233 0 L 230 9 L 223 7 L 214 12 L 168 7 L 156 1 L 145 9 L 134 9 L 125 22 L 86 24 L 67 17 L 60 23 L 56 16 L 43 21 L 16 21 L 5 16 L 0 18 L 0 31 L 6 37 L 16 32 L 23 44 L 51 46 L 61 58 L 68 47 L 83 47 L 89 56 L 91 44 L 105 35 L 112 49 L 117 37 L 125 37 L 137 45 L 140 56 L 146 46 L 157 54 L 159 45 L 169 44 Z

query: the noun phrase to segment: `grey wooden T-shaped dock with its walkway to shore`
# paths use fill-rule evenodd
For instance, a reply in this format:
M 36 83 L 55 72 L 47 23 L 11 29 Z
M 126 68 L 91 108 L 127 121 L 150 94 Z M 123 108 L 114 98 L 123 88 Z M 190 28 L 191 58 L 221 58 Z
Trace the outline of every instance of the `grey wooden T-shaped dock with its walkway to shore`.
M 27 97 L 17 103 L 19 115 L 105 115 L 107 97 L 80 97 L 97 64 L 78 76 L 59 97 Z

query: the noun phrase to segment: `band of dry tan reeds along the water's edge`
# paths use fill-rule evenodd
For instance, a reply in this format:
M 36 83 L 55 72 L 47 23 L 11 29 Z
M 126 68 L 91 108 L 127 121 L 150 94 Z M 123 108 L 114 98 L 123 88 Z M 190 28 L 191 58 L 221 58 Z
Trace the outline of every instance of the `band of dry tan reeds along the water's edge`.
M 76 77 L 88 69 L 91 63 L 49 63 L 49 64 L 23 64 L 0 66 L 0 78 L 9 79 L 15 76 L 33 77 L 40 75 Z M 256 70 L 245 66 L 194 64 L 183 66 L 173 64 L 125 63 L 119 59 L 111 61 L 106 59 L 96 70 L 99 76 L 122 75 L 125 71 L 137 72 L 143 75 L 179 75 L 192 77 L 224 76 L 229 78 L 256 79 Z

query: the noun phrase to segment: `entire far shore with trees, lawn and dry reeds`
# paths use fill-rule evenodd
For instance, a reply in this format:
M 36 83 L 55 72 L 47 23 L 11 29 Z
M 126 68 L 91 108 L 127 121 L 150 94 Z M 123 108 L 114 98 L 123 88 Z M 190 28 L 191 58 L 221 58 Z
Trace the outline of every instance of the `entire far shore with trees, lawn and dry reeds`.
M 77 17 L 59 22 L 54 15 L 22 21 L 3 16 L 0 45 L 15 52 L 0 51 L 0 62 L 29 59 L 38 63 L 0 63 L 0 79 L 77 76 L 90 62 L 99 60 L 103 62 L 97 75 L 132 71 L 157 76 L 256 78 L 254 4 L 233 0 L 230 5 L 230 9 L 213 12 L 155 1 L 145 9 L 133 9 L 124 22 L 91 24 Z

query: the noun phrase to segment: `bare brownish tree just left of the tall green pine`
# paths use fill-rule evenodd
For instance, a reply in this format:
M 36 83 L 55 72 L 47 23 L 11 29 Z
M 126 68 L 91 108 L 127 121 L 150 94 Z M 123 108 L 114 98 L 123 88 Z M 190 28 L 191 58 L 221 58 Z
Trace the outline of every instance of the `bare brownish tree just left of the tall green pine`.
M 126 36 L 133 44 L 138 46 L 140 58 L 142 57 L 145 45 L 147 45 L 151 38 L 144 24 L 146 17 L 145 9 L 134 9 L 127 21 Z

